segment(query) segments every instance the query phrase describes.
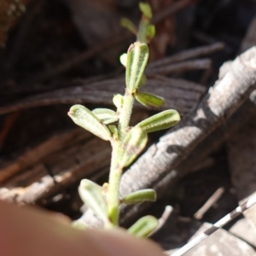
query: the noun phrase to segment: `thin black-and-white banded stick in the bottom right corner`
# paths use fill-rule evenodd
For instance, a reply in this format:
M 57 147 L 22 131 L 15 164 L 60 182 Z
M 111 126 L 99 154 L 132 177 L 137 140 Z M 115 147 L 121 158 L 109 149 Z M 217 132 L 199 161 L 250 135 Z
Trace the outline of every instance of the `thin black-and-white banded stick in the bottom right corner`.
M 205 240 L 208 236 L 211 236 L 215 231 L 222 228 L 225 224 L 229 223 L 231 220 L 239 216 L 242 212 L 246 211 L 256 203 L 256 195 L 253 195 L 248 201 L 241 204 L 240 207 L 237 207 L 236 210 L 227 214 L 224 218 L 218 220 L 217 223 L 213 224 L 212 227 L 200 236 L 195 237 L 192 241 L 189 241 L 185 246 L 181 247 L 177 252 L 172 253 L 172 256 L 182 256 L 184 253 L 187 253 L 190 249 L 195 247 L 201 241 Z

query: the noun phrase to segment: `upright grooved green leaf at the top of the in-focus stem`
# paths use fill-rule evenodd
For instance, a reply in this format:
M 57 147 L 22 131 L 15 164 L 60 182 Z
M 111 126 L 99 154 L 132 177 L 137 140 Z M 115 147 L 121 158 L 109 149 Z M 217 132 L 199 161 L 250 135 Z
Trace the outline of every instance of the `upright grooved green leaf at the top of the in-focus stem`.
M 148 55 L 147 44 L 136 42 L 128 49 L 125 81 L 130 93 L 134 93 L 140 84 L 148 62 Z

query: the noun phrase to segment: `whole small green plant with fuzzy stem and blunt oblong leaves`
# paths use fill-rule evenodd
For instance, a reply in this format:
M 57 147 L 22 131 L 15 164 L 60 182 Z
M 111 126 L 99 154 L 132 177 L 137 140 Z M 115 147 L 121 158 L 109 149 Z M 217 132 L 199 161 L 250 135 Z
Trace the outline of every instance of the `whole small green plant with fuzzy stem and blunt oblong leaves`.
M 152 16 L 148 3 L 139 4 L 143 18 L 137 29 L 131 20 L 122 20 L 122 25 L 131 32 L 137 33 L 137 42 L 131 44 L 127 54 L 121 55 L 120 61 L 126 67 L 125 95 L 113 96 L 114 112 L 108 108 L 96 108 L 90 111 L 81 105 L 70 108 L 68 115 L 74 123 L 90 131 L 97 137 L 109 141 L 112 146 L 112 157 L 108 183 L 99 186 L 88 179 L 83 179 L 79 185 L 79 195 L 84 203 L 101 218 L 105 229 L 119 225 L 119 206 L 121 204 L 137 204 L 143 201 L 155 201 L 154 189 L 143 189 L 119 197 L 119 184 L 123 170 L 137 158 L 145 148 L 148 133 L 160 131 L 176 125 L 180 116 L 176 110 L 169 109 L 144 119 L 134 127 L 130 126 L 131 113 L 135 100 L 146 107 L 160 107 L 164 99 L 160 96 L 141 91 L 146 78 L 144 69 L 148 62 L 148 43 L 154 37 L 154 25 L 150 24 Z M 129 233 L 145 237 L 157 226 L 158 221 L 153 216 L 140 218 L 128 230 Z M 79 221 L 75 226 L 85 228 Z

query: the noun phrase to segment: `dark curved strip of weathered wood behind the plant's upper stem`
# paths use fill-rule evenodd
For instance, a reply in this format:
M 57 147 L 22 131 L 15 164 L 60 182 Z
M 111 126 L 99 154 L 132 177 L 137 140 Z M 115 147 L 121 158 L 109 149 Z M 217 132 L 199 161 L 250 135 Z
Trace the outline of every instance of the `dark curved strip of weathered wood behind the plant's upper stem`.
M 124 88 L 125 78 L 123 77 L 92 84 L 83 84 L 83 81 L 80 81 L 78 86 L 75 87 L 45 92 L 0 107 L 0 114 L 60 103 L 79 104 L 86 102 L 113 105 L 113 95 L 116 93 L 123 94 Z M 195 84 L 183 79 L 162 79 L 156 77 L 148 79 L 146 90 L 165 97 L 166 104 L 162 109 L 175 108 L 180 113 L 187 113 L 199 101 L 206 89 L 201 84 Z M 144 108 L 138 103 L 136 107 Z

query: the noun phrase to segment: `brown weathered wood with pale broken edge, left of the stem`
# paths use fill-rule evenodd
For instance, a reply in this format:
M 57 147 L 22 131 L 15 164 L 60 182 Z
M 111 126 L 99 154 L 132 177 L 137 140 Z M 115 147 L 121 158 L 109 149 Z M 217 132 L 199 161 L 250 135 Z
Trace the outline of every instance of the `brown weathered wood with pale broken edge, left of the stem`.
M 131 125 L 146 118 L 146 111 L 137 111 Z M 0 198 L 19 203 L 47 202 L 84 177 L 96 180 L 107 174 L 110 154 L 108 142 L 82 128 L 55 135 L 0 166 Z

